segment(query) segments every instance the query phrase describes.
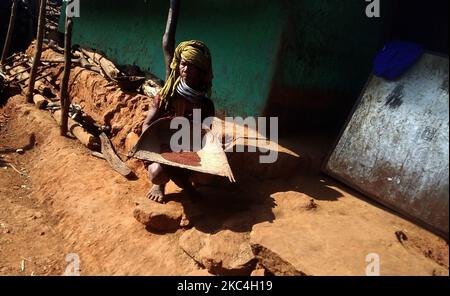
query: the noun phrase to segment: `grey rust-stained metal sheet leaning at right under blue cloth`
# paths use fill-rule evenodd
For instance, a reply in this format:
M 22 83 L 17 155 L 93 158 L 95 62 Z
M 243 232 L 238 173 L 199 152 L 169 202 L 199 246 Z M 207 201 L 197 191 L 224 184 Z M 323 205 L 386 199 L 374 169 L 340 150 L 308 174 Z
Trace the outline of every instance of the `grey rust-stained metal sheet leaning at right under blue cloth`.
M 448 57 L 371 77 L 324 171 L 448 237 Z

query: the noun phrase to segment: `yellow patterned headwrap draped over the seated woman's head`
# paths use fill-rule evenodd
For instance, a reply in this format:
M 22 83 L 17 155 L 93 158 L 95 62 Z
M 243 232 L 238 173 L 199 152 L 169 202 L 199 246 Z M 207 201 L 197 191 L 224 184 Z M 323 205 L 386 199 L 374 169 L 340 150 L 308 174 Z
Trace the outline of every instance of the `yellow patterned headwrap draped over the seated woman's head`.
M 212 87 L 212 64 L 211 64 L 211 53 L 208 47 L 198 40 L 184 41 L 181 42 L 175 49 L 173 55 L 172 63 L 170 64 L 170 75 L 167 79 L 164 87 L 160 91 L 160 103 L 159 106 L 167 109 L 169 105 L 169 99 L 174 95 L 178 83 L 180 82 L 180 73 L 178 67 L 180 65 L 181 59 L 186 60 L 188 63 L 199 67 L 206 73 L 206 92 L 208 97 L 211 96 Z

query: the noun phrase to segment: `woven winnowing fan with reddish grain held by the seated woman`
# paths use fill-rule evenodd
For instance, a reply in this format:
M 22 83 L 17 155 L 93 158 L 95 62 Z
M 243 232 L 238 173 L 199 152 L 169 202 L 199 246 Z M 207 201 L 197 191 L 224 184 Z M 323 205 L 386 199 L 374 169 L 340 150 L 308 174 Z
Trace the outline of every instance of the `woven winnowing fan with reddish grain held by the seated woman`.
M 148 160 L 196 172 L 227 177 L 236 182 L 219 138 L 202 126 L 204 145 L 198 151 L 173 152 L 170 139 L 177 130 L 170 129 L 172 118 L 161 118 L 152 123 L 128 153 L 129 157 Z

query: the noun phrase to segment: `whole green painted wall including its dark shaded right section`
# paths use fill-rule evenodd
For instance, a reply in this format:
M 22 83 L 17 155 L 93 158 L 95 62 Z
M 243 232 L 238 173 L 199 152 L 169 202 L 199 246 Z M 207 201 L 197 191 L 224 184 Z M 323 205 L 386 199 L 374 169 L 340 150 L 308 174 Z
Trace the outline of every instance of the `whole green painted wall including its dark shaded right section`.
M 356 97 L 381 44 L 382 23 L 365 16 L 367 2 L 362 0 L 181 2 L 176 42 L 199 39 L 210 47 L 212 97 L 225 115 L 270 114 L 267 110 L 277 110 L 274 100 L 286 110 L 271 115 L 298 117 L 289 108 L 297 103 L 312 114 L 305 100 L 319 99 L 299 95 L 302 91 Z M 388 5 L 382 3 L 385 14 Z M 161 39 L 168 8 L 168 0 L 81 0 L 74 43 L 164 78 Z M 321 108 L 329 102 L 315 103 Z

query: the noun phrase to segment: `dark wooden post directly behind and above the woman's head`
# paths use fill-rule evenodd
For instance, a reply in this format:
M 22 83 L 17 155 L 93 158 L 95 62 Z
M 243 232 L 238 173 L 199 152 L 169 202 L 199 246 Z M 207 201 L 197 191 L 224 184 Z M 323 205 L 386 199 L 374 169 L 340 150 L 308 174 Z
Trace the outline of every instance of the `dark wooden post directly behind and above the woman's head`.
M 170 63 L 172 63 L 175 51 L 175 33 L 177 31 L 178 15 L 181 0 L 170 0 L 169 15 L 167 16 L 166 31 L 163 35 L 164 61 L 166 62 L 166 81 L 170 75 Z

